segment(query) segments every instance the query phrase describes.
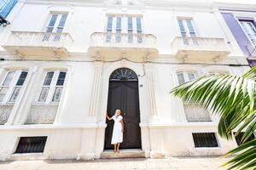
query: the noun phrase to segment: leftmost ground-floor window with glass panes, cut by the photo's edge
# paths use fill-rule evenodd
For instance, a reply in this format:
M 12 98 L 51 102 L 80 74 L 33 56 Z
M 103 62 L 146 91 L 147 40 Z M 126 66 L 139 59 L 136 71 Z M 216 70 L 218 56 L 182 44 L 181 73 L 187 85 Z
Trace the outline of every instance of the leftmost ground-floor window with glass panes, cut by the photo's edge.
M 0 103 L 15 103 L 26 80 L 27 71 L 8 71 L 0 86 Z M 8 101 L 9 99 L 9 101 Z

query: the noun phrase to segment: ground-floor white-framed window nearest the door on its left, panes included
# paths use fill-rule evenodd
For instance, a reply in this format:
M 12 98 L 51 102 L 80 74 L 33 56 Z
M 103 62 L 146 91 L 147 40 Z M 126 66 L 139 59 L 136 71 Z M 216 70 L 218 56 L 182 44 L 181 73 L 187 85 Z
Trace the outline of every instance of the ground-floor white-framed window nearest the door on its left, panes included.
M 41 93 L 38 102 L 42 103 L 58 103 L 61 99 L 62 88 L 66 78 L 65 71 L 49 71 L 44 77 Z

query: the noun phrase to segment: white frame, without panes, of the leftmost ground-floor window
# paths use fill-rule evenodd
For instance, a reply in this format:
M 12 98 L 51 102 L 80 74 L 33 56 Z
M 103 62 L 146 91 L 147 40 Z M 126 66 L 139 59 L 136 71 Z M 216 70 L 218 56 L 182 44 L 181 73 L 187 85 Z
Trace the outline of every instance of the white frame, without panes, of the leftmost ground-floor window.
M 26 71 L 27 72 L 25 81 L 23 82 L 22 85 L 16 85 L 16 83 L 18 82 L 18 80 L 20 78 L 20 74 L 21 74 L 22 71 Z M 5 78 L 8 76 L 9 72 L 15 72 L 15 75 L 14 75 L 14 77 L 12 77 L 12 80 L 9 83 L 9 85 L 4 86 L 3 82 L 5 81 Z M 7 93 L 5 94 L 5 96 L 3 97 L 3 101 L 0 102 L 0 105 L 15 104 L 17 99 L 19 99 L 20 92 L 19 92 L 17 98 L 15 99 L 15 101 L 10 101 L 10 99 L 11 99 L 13 93 L 15 92 L 15 88 L 20 88 L 20 91 L 22 90 L 24 84 L 26 83 L 27 76 L 28 76 L 28 71 L 27 70 L 9 70 L 9 71 L 5 72 L 5 76 L 4 76 L 4 78 L 3 78 L 2 82 L 1 82 L 0 88 L 3 87 L 3 88 L 9 88 L 9 89 L 8 89 Z

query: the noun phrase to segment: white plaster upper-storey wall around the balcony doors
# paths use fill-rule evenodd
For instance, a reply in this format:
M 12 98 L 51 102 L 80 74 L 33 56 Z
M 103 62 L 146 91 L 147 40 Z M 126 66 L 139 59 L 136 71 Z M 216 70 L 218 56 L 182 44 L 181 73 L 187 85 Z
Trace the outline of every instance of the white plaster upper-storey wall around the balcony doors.
M 45 31 L 50 12 L 58 11 L 68 13 L 64 32 L 70 33 L 73 37 L 73 45 L 69 47 L 71 52 L 85 53 L 87 51 L 90 34 L 95 31 L 105 31 L 107 14 L 142 14 L 143 33 L 154 34 L 157 37 L 157 48 L 160 54 L 172 54 L 172 41 L 175 37 L 181 36 L 177 17 L 192 18 L 199 37 L 223 37 L 227 42 L 228 37 L 225 36 L 223 27 L 226 30 L 228 27 L 220 26 L 216 15 L 210 12 L 210 9 L 197 11 L 191 8 L 129 8 L 128 10 L 127 8 L 97 6 L 71 2 L 30 3 L 30 1 L 21 1 L 9 16 L 11 25 L 0 27 L 0 45 L 7 41 L 10 31 Z M 12 19 L 13 15 L 15 15 L 14 19 Z M 229 46 L 237 45 L 236 41 L 231 41 L 233 42 Z M 230 49 L 233 50 L 233 48 Z M 237 49 L 232 52 L 235 56 L 242 55 Z

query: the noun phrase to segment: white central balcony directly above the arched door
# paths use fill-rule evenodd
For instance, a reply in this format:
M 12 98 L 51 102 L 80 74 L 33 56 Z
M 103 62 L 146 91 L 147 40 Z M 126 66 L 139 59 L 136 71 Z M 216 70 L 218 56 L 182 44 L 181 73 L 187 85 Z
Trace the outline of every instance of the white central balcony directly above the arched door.
M 90 36 L 90 56 L 104 60 L 131 59 L 142 61 L 158 54 L 156 37 L 151 34 L 95 32 Z

